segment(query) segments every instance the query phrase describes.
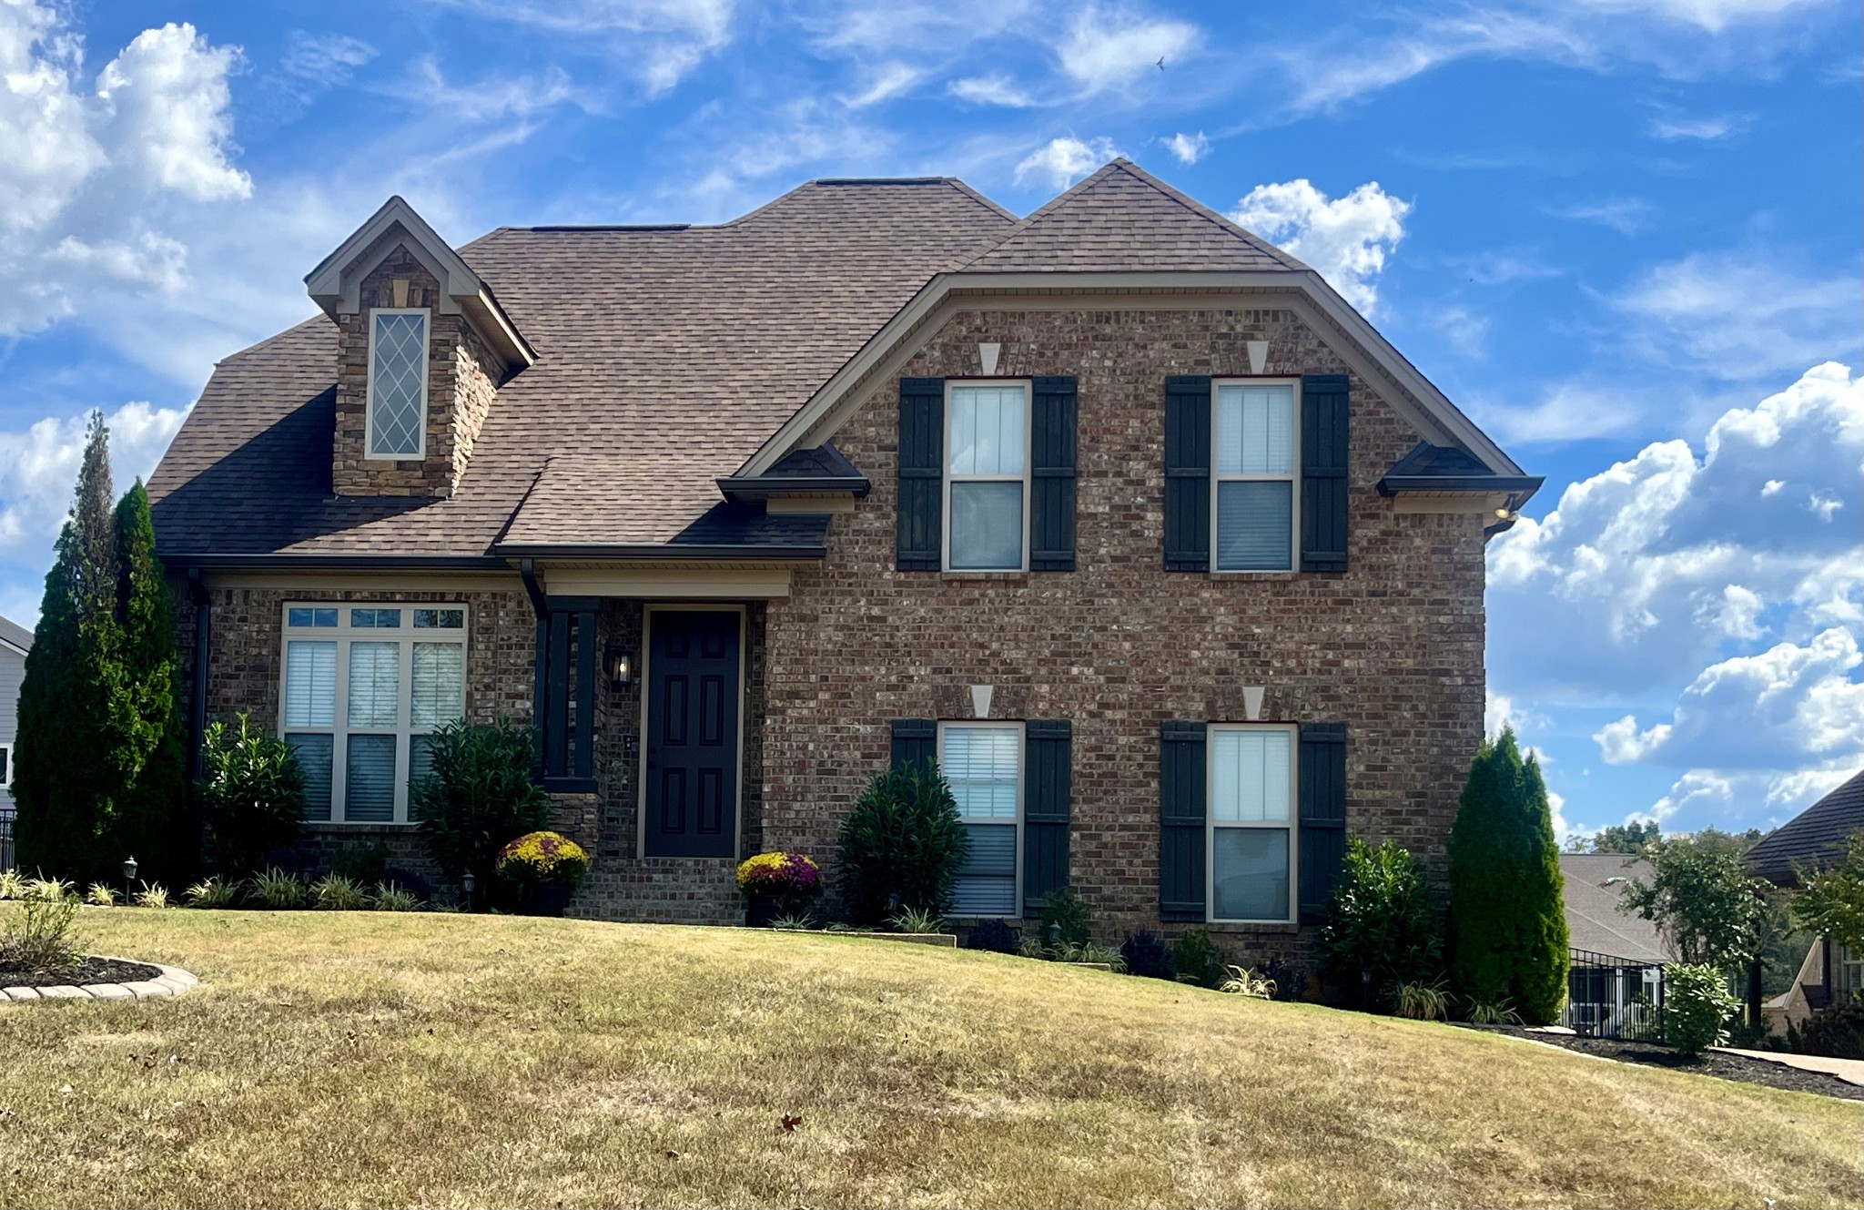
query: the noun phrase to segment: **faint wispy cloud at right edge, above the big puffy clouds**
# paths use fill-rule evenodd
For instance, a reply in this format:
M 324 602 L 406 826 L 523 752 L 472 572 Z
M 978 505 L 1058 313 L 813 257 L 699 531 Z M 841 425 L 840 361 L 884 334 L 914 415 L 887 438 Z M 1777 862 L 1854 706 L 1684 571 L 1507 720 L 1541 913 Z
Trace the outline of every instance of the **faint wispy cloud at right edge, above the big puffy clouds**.
M 1702 254 L 1655 265 L 1610 304 L 1661 365 L 1765 378 L 1858 349 L 1857 274 L 1795 272 L 1765 254 Z

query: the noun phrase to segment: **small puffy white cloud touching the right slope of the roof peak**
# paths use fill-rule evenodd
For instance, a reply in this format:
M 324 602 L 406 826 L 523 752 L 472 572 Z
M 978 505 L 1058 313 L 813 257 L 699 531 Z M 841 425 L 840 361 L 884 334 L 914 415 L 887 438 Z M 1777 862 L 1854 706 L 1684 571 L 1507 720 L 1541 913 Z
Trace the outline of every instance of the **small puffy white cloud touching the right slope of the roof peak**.
M 1355 308 L 1372 315 L 1385 255 L 1404 239 L 1411 203 L 1368 181 L 1329 199 L 1307 177 L 1258 185 L 1230 213 L 1240 226 L 1286 248 L 1323 276 Z

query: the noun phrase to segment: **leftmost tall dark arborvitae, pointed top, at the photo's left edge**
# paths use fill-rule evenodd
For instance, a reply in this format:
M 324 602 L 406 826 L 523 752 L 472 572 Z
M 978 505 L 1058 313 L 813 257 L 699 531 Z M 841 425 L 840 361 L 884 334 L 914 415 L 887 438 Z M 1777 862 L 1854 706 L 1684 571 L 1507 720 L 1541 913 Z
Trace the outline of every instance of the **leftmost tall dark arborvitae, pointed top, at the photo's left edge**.
M 119 777 L 108 751 L 117 628 L 110 433 L 91 414 L 76 500 L 45 576 L 19 690 L 17 863 L 58 878 L 110 878 Z

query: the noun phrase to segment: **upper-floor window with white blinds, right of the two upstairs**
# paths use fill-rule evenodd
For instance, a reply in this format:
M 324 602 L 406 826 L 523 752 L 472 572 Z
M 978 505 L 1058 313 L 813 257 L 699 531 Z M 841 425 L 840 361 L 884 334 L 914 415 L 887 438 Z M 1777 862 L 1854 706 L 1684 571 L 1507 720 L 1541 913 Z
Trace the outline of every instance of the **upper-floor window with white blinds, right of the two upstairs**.
M 1294 382 L 1217 382 L 1212 425 L 1217 571 L 1294 571 L 1299 401 Z

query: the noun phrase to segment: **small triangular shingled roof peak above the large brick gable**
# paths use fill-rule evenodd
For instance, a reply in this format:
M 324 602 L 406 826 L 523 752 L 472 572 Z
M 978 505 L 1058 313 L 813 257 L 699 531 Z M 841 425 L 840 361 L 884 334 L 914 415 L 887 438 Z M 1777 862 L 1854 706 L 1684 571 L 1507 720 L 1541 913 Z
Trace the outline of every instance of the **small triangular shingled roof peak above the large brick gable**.
M 966 265 L 967 272 L 1305 268 L 1131 160 L 1103 166 Z

